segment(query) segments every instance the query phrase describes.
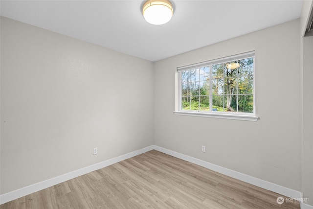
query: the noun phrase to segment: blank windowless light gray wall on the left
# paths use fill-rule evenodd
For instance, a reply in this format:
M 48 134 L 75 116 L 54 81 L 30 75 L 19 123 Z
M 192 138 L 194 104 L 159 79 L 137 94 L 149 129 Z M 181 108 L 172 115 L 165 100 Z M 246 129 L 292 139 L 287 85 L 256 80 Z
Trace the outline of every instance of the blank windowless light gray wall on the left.
M 0 41 L 1 194 L 152 145 L 152 62 L 3 17 Z

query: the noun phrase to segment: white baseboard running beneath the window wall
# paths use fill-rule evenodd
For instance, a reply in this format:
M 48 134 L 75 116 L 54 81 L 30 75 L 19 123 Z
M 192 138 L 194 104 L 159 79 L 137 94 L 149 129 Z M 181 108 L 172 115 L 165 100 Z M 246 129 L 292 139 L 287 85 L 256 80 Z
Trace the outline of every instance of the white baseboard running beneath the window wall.
M 202 167 L 208 168 L 210 170 L 216 171 L 218 173 L 224 174 L 224 175 L 232 177 L 234 179 L 241 180 L 241 181 L 249 183 L 251 185 L 259 186 L 261 188 L 265 188 L 269 191 L 273 191 L 273 192 L 285 195 L 287 197 L 291 197 L 291 198 L 295 198 L 295 199 L 301 198 L 301 192 L 299 192 L 299 191 L 296 191 L 296 190 L 293 190 L 290 188 L 286 188 L 284 186 L 279 186 L 279 185 L 276 185 L 276 184 L 273 184 L 273 183 L 270 183 L 270 182 L 252 177 L 252 176 L 248 176 L 246 174 L 239 173 L 237 171 L 230 170 L 228 168 L 224 168 L 224 167 L 219 166 L 219 165 L 208 163 L 208 162 L 199 160 L 197 158 L 183 155 L 183 154 L 180 154 L 178 152 L 174 152 L 172 150 L 168 150 L 168 149 L 156 146 L 156 145 L 154 145 L 153 147 L 157 151 L 160 151 L 160 152 L 163 152 L 165 154 L 177 157 L 181 160 L 185 160 L 185 161 L 188 161 L 190 163 L 195 163 L 197 165 L 201 165 Z

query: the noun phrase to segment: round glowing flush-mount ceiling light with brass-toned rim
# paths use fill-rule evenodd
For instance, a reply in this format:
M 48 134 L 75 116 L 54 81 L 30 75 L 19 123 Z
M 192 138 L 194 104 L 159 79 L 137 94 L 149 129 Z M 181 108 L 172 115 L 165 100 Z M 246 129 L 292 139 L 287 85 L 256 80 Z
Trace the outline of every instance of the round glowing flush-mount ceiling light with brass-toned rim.
M 142 6 L 143 17 L 151 24 L 167 23 L 173 13 L 173 5 L 169 0 L 147 0 Z

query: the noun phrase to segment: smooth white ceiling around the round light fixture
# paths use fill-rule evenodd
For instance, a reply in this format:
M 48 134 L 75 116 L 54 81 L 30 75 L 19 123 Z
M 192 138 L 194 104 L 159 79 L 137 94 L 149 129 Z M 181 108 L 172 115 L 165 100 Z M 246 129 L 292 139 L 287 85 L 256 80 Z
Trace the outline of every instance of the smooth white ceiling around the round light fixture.
M 303 0 L 171 0 L 164 25 L 145 0 L 1 0 L 0 15 L 150 61 L 300 18 Z

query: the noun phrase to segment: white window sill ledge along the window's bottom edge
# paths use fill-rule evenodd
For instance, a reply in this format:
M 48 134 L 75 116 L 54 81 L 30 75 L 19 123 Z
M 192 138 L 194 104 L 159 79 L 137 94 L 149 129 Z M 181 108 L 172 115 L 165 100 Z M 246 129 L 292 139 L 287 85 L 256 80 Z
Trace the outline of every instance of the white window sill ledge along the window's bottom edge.
M 178 115 L 178 116 L 197 116 L 197 117 L 213 117 L 213 118 L 232 119 L 232 120 L 247 120 L 247 121 L 257 121 L 259 119 L 259 116 L 251 116 L 251 115 L 201 113 L 201 112 L 182 112 L 182 111 L 175 111 L 174 115 Z

